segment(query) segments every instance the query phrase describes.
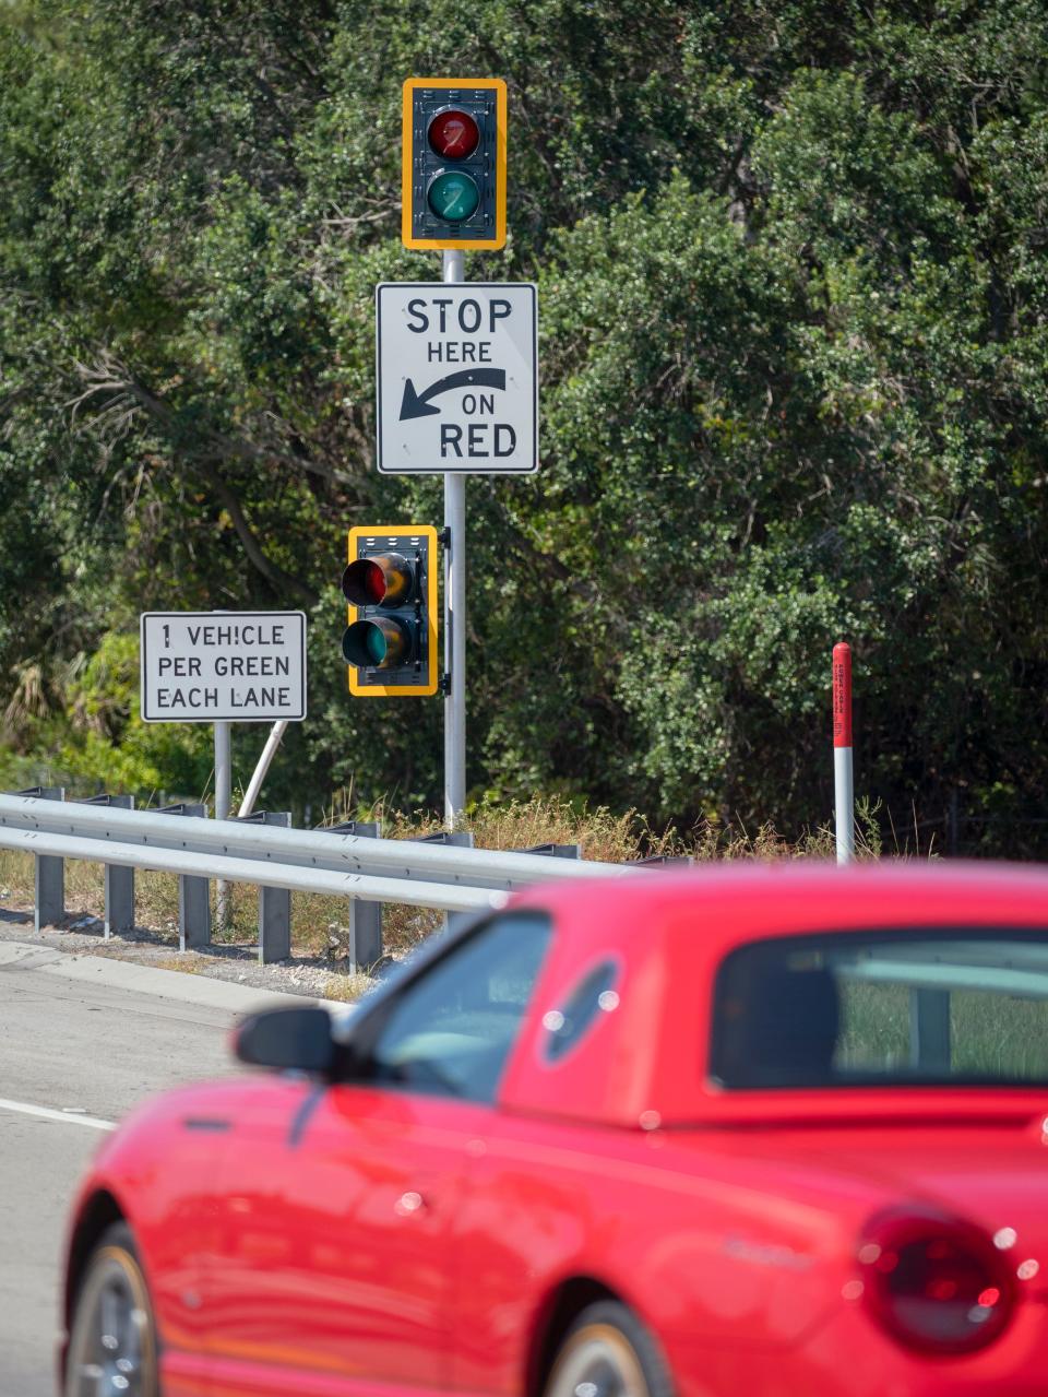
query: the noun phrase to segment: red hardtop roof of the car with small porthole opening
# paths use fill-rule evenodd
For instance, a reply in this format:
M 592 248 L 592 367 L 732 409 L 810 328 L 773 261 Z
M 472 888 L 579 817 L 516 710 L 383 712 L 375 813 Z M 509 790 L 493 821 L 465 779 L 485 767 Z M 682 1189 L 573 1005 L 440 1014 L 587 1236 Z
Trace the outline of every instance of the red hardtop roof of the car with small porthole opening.
M 642 1118 L 684 1125 L 727 1119 L 740 1106 L 758 1118 L 768 1111 L 769 1092 L 751 1092 L 741 1105 L 738 1092 L 717 1092 L 705 1074 L 714 977 L 737 946 L 864 928 L 1048 928 L 1048 873 L 938 861 L 701 865 L 547 884 L 509 905 L 547 911 L 557 936 L 508 1065 L 502 1105 L 604 1125 L 636 1126 Z M 615 1011 L 550 1063 L 546 1016 L 603 963 L 620 970 Z M 776 1101 L 800 1095 L 777 1092 Z M 840 1091 L 804 1095 L 811 1098 L 804 1109 L 816 1115 L 816 1097 L 832 1097 L 833 1109 L 847 1105 Z M 957 1101 L 953 1088 L 950 1099 Z M 864 1090 L 861 1109 L 869 1104 Z

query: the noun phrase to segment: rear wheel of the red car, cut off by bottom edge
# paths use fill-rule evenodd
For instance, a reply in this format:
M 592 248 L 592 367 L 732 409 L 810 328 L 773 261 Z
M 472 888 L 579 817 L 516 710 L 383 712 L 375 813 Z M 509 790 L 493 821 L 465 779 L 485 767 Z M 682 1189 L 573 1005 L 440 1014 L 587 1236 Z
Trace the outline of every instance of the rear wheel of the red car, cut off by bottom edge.
M 618 1301 L 599 1301 L 568 1330 L 544 1397 L 673 1397 L 673 1384 L 636 1315 Z

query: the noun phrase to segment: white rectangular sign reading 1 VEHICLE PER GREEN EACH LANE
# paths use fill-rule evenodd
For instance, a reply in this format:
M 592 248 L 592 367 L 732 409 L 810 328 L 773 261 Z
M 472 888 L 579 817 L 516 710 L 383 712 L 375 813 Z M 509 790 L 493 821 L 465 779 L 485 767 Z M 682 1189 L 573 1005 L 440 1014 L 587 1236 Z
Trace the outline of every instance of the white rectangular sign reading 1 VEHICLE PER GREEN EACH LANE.
M 145 722 L 306 717 L 304 612 L 144 612 Z

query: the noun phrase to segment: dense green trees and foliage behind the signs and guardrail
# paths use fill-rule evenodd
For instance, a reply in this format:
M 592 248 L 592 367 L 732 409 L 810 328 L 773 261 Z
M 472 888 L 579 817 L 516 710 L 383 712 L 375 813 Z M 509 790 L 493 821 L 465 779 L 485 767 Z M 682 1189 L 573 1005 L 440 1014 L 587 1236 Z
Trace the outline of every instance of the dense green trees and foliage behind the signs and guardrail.
M 345 529 L 380 478 L 373 289 L 399 88 L 509 82 L 543 468 L 469 482 L 469 785 L 829 813 L 1030 851 L 1048 785 L 1042 0 L 0 0 L 0 675 L 10 785 L 198 793 L 135 717 L 144 608 L 299 606 L 269 800 L 434 802 L 440 703 L 350 701 Z M 237 732 L 239 771 L 264 733 Z

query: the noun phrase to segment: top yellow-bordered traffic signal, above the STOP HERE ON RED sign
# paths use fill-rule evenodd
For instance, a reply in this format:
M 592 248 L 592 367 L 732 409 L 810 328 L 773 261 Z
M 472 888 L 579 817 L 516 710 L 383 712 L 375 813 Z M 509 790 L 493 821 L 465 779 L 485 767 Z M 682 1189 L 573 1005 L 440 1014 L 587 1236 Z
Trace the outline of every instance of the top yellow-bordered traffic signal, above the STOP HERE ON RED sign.
M 505 112 L 501 78 L 407 78 L 405 247 L 505 244 Z

